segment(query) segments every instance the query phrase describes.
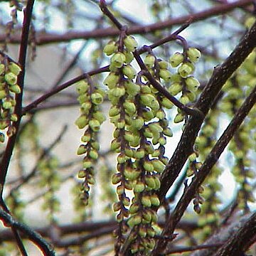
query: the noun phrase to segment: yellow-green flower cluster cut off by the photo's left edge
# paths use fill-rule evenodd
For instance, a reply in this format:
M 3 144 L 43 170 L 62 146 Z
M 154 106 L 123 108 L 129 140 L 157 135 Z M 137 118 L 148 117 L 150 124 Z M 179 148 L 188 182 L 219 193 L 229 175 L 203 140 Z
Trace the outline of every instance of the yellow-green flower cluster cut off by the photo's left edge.
M 18 120 L 14 107 L 15 95 L 21 92 L 21 88 L 17 85 L 20 72 L 21 68 L 16 63 L 0 63 L 0 129 L 6 130 L 8 137 L 16 132 L 13 122 Z M 3 143 L 4 139 L 4 132 L 0 132 L 0 142 Z

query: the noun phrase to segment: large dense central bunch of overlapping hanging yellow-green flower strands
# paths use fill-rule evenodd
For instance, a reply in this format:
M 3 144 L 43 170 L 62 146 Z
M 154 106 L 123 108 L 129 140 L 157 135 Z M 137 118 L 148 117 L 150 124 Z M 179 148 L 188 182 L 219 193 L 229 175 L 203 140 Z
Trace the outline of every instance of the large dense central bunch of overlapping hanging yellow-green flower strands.
M 139 82 L 139 78 L 134 82 L 137 72 L 131 62 L 137 42 L 126 36 L 123 43 L 121 47 L 119 42 L 111 41 L 104 49 L 107 55 L 112 55 L 110 74 L 104 84 L 109 89 L 112 104 L 109 115 L 115 127 L 111 149 L 118 154 L 117 174 L 112 176 L 119 199 L 113 206 L 119 212 L 115 250 L 119 252 L 130 229 L 132 252 L 146 253 L 155 244 L 154 207 L 160 204 L 156 191 L 160 187 L 159 175 L 168 162 L 164 156 L 166 135 L 172 135 L 163 106 L 172 104 L 149 83 Z M 134 193 L 132 202 L 127 190 Z

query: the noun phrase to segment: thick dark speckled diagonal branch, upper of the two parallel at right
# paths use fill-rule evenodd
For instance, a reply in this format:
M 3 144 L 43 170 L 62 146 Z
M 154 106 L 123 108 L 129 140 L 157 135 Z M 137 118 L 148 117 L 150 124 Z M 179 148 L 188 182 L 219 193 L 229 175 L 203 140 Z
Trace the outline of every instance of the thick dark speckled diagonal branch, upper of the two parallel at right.
M 256 23 L 252 26 L 242 38 L 238 46 L 233 50 L 233 53 L 220 65 L 215 68 L 208 84 L 201 93 L 196 105 L 194 106 L 203 114 L 207 114 L 210 106 L 213 104 L 215 97 L 218 96 L 221 88 L 230 76 L 238 69 L 242 62 L 247 58 L 256 46 Z M 188 156 L 193 152 L 193 144 L 197 134 L 201 129 L 203 118 L 199 116 L 191 116 L 186 123 L 186 126 L 178 142 L 178 146 L 167 164 L 164 173 L 161 176 L 161 188 L 159 189 L 159 199 L 164 200 L 166 193 L 171 188 L 172 184 L 181 172 L 183 165 L 186 163 Z

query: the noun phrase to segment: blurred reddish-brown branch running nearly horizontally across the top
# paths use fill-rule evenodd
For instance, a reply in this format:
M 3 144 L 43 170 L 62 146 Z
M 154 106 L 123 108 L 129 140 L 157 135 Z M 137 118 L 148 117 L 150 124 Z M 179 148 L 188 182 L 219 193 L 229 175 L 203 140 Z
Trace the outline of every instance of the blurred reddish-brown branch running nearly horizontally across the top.
M 218 6 L 214 6 L 205 11 L 200 11 L 196 14 L 189 14 L 186 16 L 181 16 L 179 18 L 171 18 L 166 21 L 156 22 L 149 25 L 144 26 L 132 26 L 128 29 L 127 33 L 129 34 L 146 34 L 152 33 L 154 31 L 163 30 L 165 28 L 171 28 L 174 25 L 181 25 L 186 23 L 191 19 L 191 23 L 205 20 L 206 18 L 210 18 L 213 16 L 218 16 L 222 14 L 226 14 L 229 11 L 232 11 L 235 8 L 241 8 L 248 6 L 253 3 L 253 0 L 240 0 L 235 1 L 233 3 L 228 4 L 220 4 Z M 88 38 L 106 38 L 112 36 L 118 36 L 119 30 L 117 28 L 99 28 L 93 31 L 72 31 L 68 33 L 46 33 L 43 31 L 42 33 L 37 33 L 36 44 L 44 45 L 47 43 L 60 43 L 60 42 L 69 42 L 77 39 L 88 39 Z M 4 42 L 5 35 L 0 35 L 0 42 Z M 11 36 L 10 43 L 20 43 L 20 38 L 18 35 Z

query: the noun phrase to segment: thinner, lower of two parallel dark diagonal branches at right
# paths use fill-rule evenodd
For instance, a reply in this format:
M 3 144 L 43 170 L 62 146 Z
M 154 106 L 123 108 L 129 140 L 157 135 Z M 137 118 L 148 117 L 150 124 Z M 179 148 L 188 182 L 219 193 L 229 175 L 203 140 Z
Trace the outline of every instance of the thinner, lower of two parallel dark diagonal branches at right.
M 230 140 L 233 138 L 233 135 L 240 127 L 240 124 L 242 124 L 247 114 L 255 105 L 255 102 L 256 86 L 252 90 L 250 95 L 246 98 L 245 102 L 242 104 L 238 112 L 235 114 L 235 117 L 233 117 L 232 121 L 228 125 L 227 129 L 225 129 L 225 132 L 223 132 L 220 139 L 218 139 L 218 142 L 216 142 L 216 144 L 213 146 L 213 149 L 210 151 L 210 154 L 208 154 L 206 161 L 203 162 L 203 165 L 199 169 L 196 176 L 193 178 L 191 184 L 187 188 L 185 188 L 185 191 L 181 196 L 181 199 L 178 201 L 176 208 L 174 209 L 173 213 L 171 213 L 169 220 L 166 221 L 167 225 L 165 226 L 162 235 L 169 236 L 174 233 L 174 229 L 178 221 L 181 220 L 183 213 L 188 207 L 188 204 L 194 198 L 194 195 L 196 194 L 198 187 L 201 186 L 206 176 L 208 176 L 210 170 L 218 161 L 225 147 L 228 145 Z M 158 243 L 156 245 L 153 255 L 159 255 L 160 252 L 163 252 L 163 250 L 166 247 L 166 244 L 167 242 Z

